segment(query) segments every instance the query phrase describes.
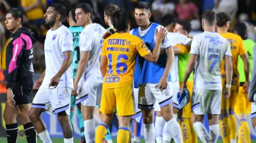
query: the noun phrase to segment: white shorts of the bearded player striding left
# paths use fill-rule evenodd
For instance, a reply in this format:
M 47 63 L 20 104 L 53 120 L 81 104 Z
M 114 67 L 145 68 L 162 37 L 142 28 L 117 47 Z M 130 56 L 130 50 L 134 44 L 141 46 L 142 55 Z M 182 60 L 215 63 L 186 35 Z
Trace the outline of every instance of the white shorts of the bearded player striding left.
M 72 88 L 70 87 L 54 89 L 40 87 L 34 96 L 31 108 L 42 108 L 49 114 L 66 111 L 66 114 L 69 115 L 71 92 Z

